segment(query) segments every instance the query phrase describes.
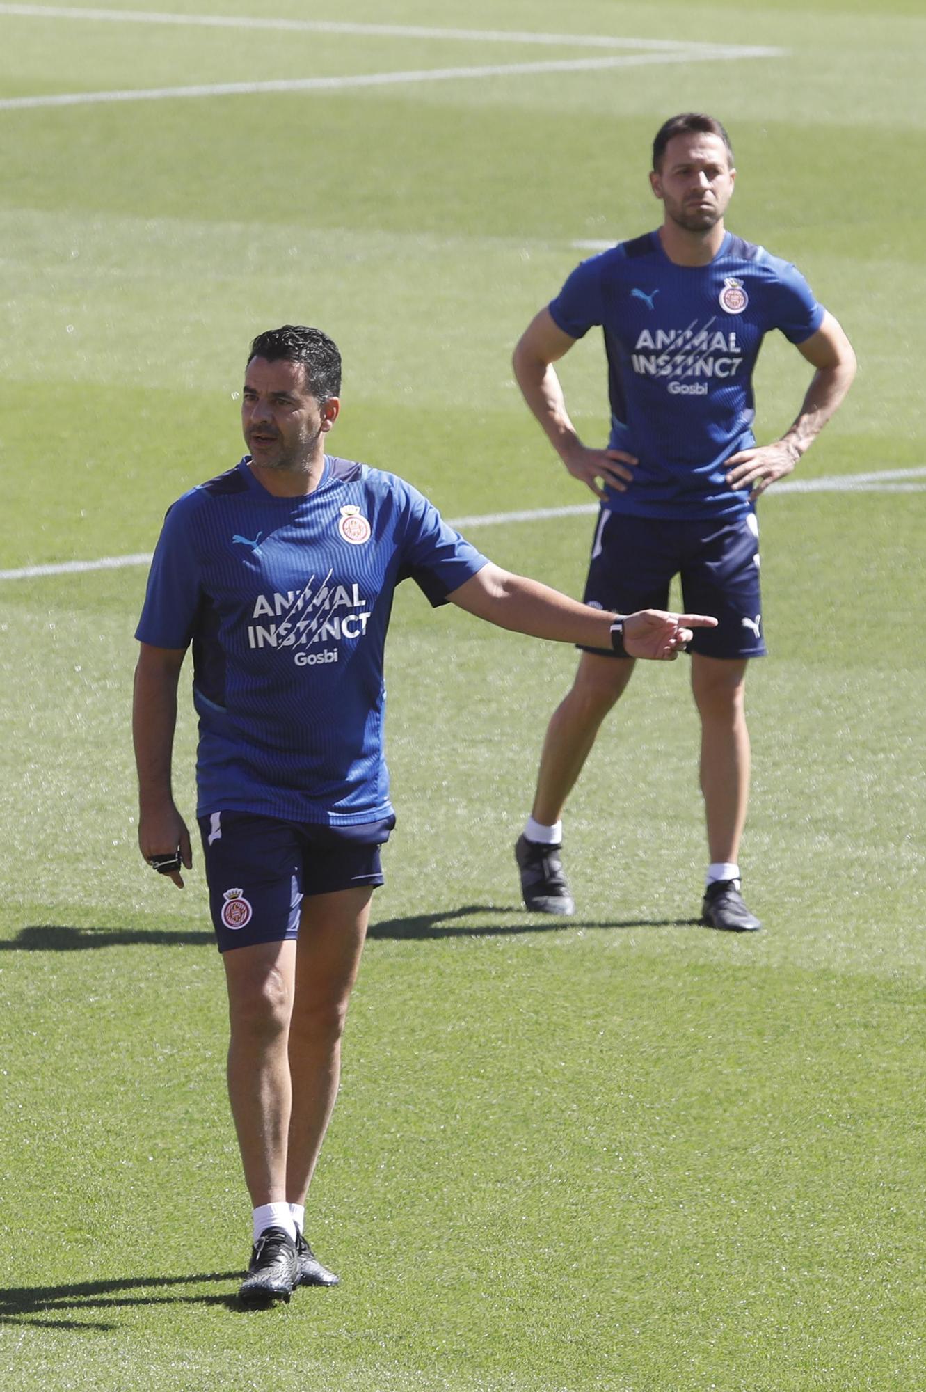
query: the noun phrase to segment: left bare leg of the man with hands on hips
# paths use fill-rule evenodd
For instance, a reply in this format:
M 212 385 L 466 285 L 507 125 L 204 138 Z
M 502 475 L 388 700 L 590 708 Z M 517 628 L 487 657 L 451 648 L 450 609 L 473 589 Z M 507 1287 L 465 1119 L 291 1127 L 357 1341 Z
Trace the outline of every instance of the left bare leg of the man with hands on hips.
M 623 695 L 633 670 L 633 658 L 583 653 L 571 690 L 546 728 L 533 807 L 542 825 L 552 827 L 562 817 L 601 722 Z

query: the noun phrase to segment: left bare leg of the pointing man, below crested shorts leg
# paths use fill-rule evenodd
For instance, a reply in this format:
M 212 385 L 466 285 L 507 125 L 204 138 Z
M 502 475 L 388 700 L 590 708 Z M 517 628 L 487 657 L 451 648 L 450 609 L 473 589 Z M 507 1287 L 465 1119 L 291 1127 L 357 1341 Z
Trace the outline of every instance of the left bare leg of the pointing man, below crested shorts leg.
M 228 1097 L 254 1208 L 286 1199 L 292 1089 L 286 1036 L 296 944 L 259 942 L 222 954 L 231 1038 Z

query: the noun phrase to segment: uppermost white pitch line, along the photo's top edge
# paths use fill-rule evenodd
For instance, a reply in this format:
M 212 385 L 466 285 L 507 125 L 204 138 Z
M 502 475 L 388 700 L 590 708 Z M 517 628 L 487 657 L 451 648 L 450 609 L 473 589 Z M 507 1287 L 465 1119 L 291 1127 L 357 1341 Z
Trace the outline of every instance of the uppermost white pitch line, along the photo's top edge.
M 350 24 L 334 19 L 274 19 L 270 17 L 222 15 L 222 14 L 175 14 L 159 10 L 95 10 L 68 8 L 43 4 L 0 4 L 0 14 L 18 15 L 26 19 L 90 19 L 110 24 L 172 24 L 203 29 L 277 29 L 288 33 L 339 33 L 355 38 L 374 39 L 449 39 L 463 43 L 531 43 L 553 47 L 576 49 L 651 49 L 669 50 L 699 49 L 713 52 L 717 45 L 697 40 L 674 39 L 622 39 L 601 33 L 533 33 L 530 31 L 506 29 L 441 29 L 417 24 Z M 786 49 L 723 46 L 741 57 L 776 57 Z

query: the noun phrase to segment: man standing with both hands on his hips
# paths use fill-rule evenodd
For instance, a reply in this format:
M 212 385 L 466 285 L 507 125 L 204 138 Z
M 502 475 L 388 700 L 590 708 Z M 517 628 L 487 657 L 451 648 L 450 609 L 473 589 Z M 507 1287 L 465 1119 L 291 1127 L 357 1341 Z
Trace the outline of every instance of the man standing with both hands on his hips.
M 736 168 L 709 116 L 672 117 L 652 152 L 655 232 L 583 262 L 514 349 L 524 398 L 569 472 L 601 498 L 585 603 L 684 603 L 719 618 L 691 644 L 701 717 L 701 788 L 709 866 L 704 922 L 761 927 L 741 895 L 740 838 L 749 788 L 742 693 L 747 661 L 765 654 L 755 501 L 794 465 L 843 401 L 855 355 L 794 266 L 724 228 Z M 592 326 L 608 355 L 609 448 L 583 444 L 553 363 Z M 815 367 L 799 415 L 773 444 L 752 434 L 752 370 L 773 329 Z M 581 646 L 581 644 L 580 644 Z M 531 816 L 516 857 L 528 909 L 573 913 L 559 852 L 566 799 L 633 661 L 584 651 L 555 711 Z

